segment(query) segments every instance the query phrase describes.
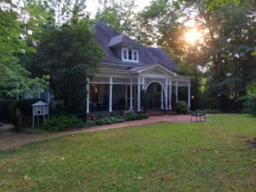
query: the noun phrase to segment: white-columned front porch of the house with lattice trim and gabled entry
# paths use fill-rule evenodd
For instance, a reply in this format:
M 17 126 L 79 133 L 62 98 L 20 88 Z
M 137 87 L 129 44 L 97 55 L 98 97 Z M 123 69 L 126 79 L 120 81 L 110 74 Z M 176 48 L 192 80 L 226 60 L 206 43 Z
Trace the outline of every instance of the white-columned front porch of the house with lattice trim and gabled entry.
M 190 108 L 190 79 L 160 66 L 132 74 L 101 73 L 88 79 L 86 113 L 172 110 L 180 87 L 187 89 L 186 102 Z

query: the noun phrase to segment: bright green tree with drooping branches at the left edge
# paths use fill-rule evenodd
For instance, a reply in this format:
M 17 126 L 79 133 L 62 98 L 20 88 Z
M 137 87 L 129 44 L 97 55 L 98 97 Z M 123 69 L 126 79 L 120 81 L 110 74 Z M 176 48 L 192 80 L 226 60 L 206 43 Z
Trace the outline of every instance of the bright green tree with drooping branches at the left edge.
M 30 73 L 20 65 L 17 55 L 29 48 L 22 38 L 23 29 L 11 1 L 0 4 L 0 96 L 18 96 L 32 87 L 35 93 L 47 85 L 46 77 L 31 79 Z

